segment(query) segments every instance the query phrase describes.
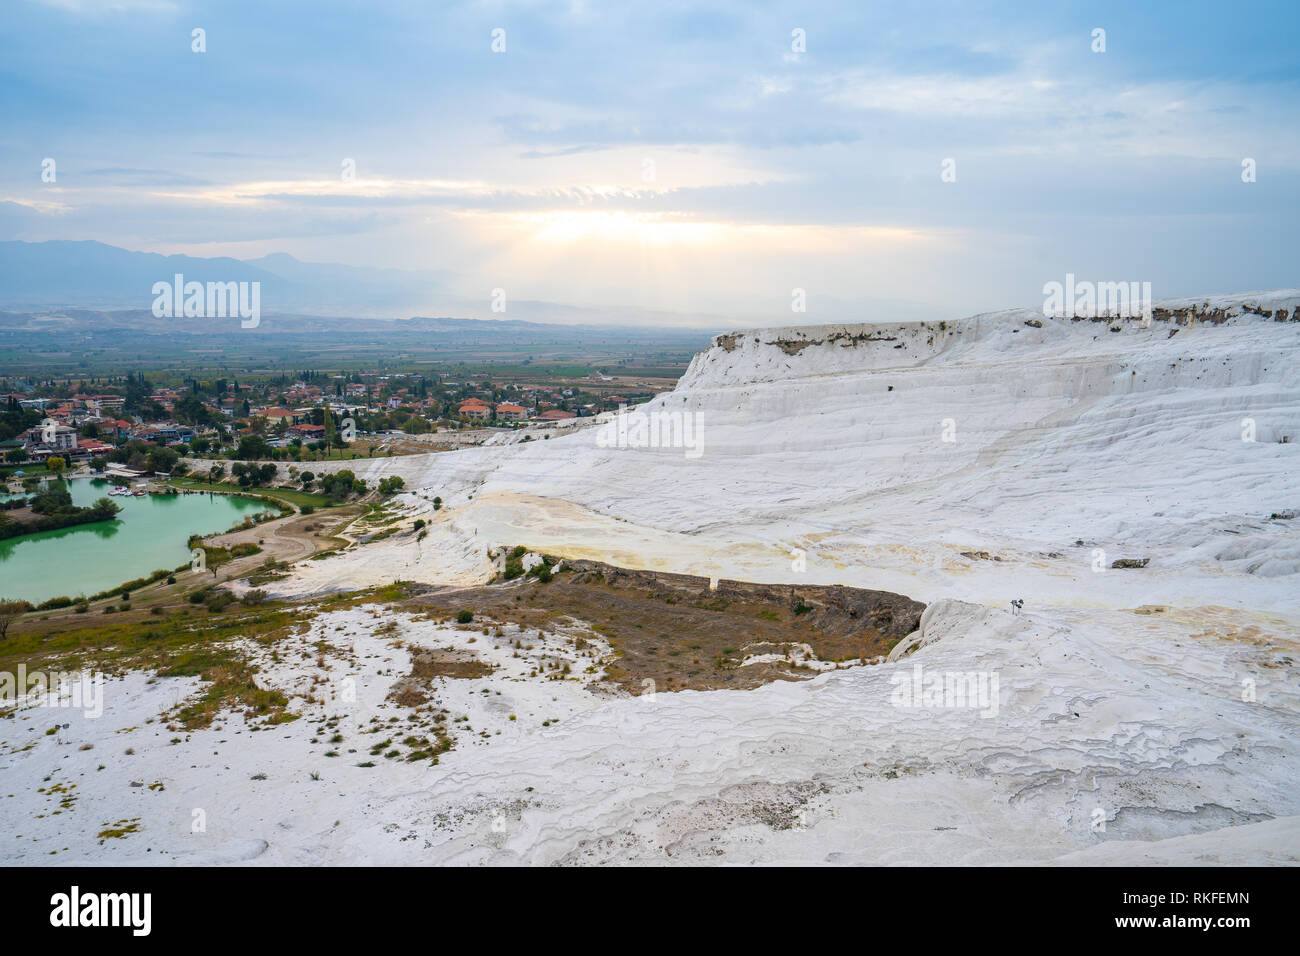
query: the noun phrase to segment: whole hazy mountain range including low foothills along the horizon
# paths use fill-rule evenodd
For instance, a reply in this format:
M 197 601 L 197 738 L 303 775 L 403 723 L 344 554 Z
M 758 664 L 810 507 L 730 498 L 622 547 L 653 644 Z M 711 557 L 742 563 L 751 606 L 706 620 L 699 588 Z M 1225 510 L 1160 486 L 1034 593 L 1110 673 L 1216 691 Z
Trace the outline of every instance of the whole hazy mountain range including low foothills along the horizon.
M 248 330 L 238 316 L 155 316 L 153 284 L 170 285 L 177 273 L 186 282 L 260 282 L 263 319 L 255 336 L 243 334 Z M 722 321 L 712 330 L 690 328 L 681 324 L 682 316 L 641 310 L 517 299 L 510 315 L 494 315 L 486 300 L 469 303 L 442 293 L 442 278 L 434 272 L 304 263 L 283 252 L 204 259 L 103 242 L 0 242 L 0 352 L 72 362 L 104 349 L 153 355 L 207 338 L 221 349 L 259 342 L 295 355 L 324 347 L 407 355 L 432 349 L 445 358 L 448 350 L 474 352 L 497 343 L 512 354 L 538 350 L 538 358 L 580 347 L 603 349 L 612 358 L 623 346 L 651 342 L 689 355 L 707 345 L 712 330 L 727 328 Z M 430 308 L 455 310 L 455 317 L 430 316 Z

